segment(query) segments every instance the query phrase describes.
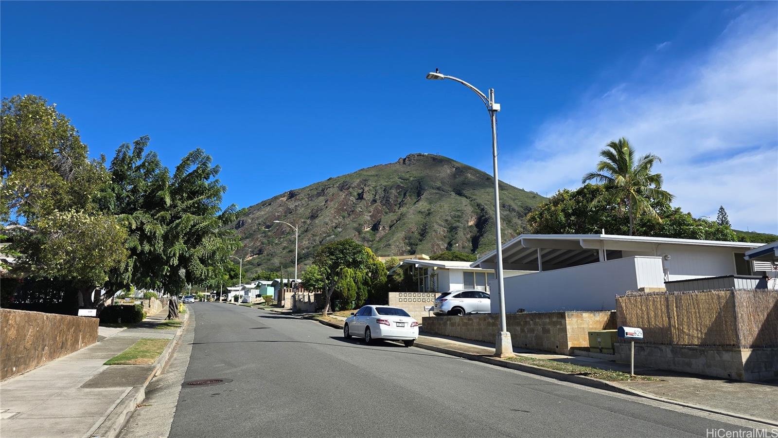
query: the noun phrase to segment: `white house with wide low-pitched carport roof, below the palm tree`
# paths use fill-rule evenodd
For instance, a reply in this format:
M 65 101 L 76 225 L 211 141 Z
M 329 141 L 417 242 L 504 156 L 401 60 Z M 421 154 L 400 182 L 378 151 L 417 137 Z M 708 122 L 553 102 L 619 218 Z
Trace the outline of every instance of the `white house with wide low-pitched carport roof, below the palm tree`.
M 757 246 L 626 235 L 519 235 L 503 245 L 503 269 L 537 272 L 506 277 L 506 312 L 608 310 L 615 308 L 615 295 L 665 288 L 665 281 L 751 276 L 755 269 L 745 252 Z M 495 251 L 472 263 L 495 265 Z M 492 300 L 492 313 L 497 306 Z

